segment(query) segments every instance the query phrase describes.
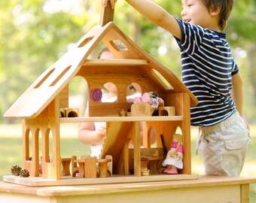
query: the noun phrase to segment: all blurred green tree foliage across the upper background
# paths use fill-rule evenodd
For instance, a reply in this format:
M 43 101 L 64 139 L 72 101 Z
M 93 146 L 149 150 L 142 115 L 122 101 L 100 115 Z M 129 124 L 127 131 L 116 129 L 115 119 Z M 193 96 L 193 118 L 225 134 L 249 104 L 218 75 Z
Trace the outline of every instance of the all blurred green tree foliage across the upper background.
M 180 17 L 180 1 L 154 2 Z M 245 117 L 252 122 L 256 114 L 252 108 L 256 102 L 256 3 L 255 0 L 235 2 L 225 32 L 244 78 Z M 33 80 L 99 23 L 100 9 L 100 1 L 95 0 L 0 2 L 1 118 Z M 145 20 L 125 1 L 117 2 L 114 13 L 114 23 L 126 35 L 181 77 L 180 53 L 169 33 Z

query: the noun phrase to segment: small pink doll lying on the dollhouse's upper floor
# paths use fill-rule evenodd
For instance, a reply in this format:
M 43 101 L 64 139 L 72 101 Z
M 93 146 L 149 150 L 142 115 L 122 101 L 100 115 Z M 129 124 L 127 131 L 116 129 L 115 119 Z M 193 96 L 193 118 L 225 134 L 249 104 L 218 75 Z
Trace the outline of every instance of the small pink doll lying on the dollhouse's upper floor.
M 145 102 L 151 105 L 151 108 L 158 108 L 164 106 L 163 99 L 158 97 L 157 92 L 145 92 L 141 97 L 136 97 L 134 103 Z

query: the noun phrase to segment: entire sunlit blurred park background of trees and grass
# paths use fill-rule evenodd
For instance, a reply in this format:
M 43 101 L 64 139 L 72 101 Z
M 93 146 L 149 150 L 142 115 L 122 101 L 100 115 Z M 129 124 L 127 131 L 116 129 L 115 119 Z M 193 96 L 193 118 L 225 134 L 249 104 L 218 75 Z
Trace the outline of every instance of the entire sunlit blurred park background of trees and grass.
M 12 165 L 22 165 L 20 120 L 5 120 L 5 111 L 31 83 L 93 26 L 99 24 L 99 0 L 8 0 L 0 2 L 0 180 Z M 180 1 L 155 0 L 180 16 Z M 118 1 L 114 23 L 151 56 L 181 78 L 178 46 L 169 33 L 139 15 L 125 1 Z M 251 126 L 251 145 L 242 176 L 256 176 L 256 2 L 235 1 L 228 21 L 227 38 L 239 65 L 245 89 L 244 117 Z M 96 53 L 93 53 L 96 54 Z M 70 89 L 73 106 L 85 107 L 86 89 L 77 80 Z M 81 101 L 81 102 L 79 102 Z M 84 112 L 83 110 L 81 112 Z M 89 153 L 77 139 L 78 124 L 61 127 L 62 154 Z M 195 156 L 197 128 L 192 128 L 192 169 L 203 174 L 202 157 Z M 70 145 L 69 143 L 72 143 Z M 72 148 L 70 147 L 72 146 Z M 73 154 L 71 154 L 73 153 Z M 251 187 L 256 193 L 256 186 Z M 256 202 L 256 200 L 251 200 Z

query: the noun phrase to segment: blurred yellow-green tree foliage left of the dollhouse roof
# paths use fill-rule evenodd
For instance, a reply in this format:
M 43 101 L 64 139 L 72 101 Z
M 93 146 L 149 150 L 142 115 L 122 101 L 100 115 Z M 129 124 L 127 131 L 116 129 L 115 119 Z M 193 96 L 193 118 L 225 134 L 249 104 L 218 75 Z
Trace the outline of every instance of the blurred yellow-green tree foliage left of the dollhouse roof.
M 98 7 L 94 1 L 9 0 L 0 2 L 0 113 L 45 69 L 81 38 Z M 72 6 L 77 2 L 76 7 Z M 69 3 L 69 6 L 66 4 Z M 87 12 L 85 12 L 87 9 Z

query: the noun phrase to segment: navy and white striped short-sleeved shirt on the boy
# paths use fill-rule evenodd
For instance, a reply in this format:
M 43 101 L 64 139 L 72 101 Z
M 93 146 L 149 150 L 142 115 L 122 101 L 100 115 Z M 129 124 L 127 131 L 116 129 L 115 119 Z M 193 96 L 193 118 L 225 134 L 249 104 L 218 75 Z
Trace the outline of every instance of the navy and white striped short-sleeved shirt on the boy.
M 212 126 L 230 117 L 236 107 L 231 97 L 232 75 L 239 71 L 226 35 L 178 20 L 182 80 L 197 97 L 190 108 L 192 126 Z

